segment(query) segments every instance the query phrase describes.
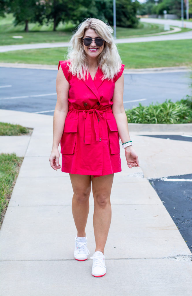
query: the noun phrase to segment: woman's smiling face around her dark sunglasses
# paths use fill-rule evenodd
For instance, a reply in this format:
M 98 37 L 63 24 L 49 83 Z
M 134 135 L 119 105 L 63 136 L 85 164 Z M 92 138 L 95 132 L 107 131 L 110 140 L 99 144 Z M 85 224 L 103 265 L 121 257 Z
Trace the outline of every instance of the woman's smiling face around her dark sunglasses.
M 96 34 L 96 32 L 93 29 L 87 29 L 85 31 L 85 34 L 83 38 L 101 38 Z M 102 39 L 102 38 L 101 38 Z M 99 54 L 103 51 L 104 49 L 104 44 L 102 46 L 97 46 L 95 43 L 95 40 L 93 39 L 92 43 L 88 46 L 85 46 L 83 43 L 83 48 L 87 54 L 88 57 L 90 58 L 96 58 L 99 56 Z

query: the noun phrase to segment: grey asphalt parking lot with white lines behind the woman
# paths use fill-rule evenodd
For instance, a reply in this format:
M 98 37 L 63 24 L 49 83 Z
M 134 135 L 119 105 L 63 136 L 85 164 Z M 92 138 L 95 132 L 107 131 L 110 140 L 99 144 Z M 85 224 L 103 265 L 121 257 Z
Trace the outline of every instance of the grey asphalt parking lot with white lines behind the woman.
M 0 68 L 0 108 L 53 115 L 56 70 Z M 173 102 L 191 93 L 189 72 L 124 74 L 124 106 Z

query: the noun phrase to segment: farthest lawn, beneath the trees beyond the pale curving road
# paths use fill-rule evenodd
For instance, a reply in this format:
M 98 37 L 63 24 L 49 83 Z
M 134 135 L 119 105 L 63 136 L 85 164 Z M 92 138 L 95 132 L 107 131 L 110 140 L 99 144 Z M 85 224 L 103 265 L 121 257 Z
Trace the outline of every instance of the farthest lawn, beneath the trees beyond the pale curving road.
M 53 24 L 38 25 L 29 24 L 29 32 L 24 31 L 24 25 L 14 26 L 12 14 L 5 18 L 0 17 L 0 44 L 29 44 L 42 42 L 64 42 L 69 41 L 75 25 L 72 23 L 60 23 L 57 31 L 53 32 Z M 117 38 L 128 38 L 133 36 L 143 36 L 163 32 L 164 26 L 159 24 L 140 23 L 138 28 L 120 28 L 117 27 Z M 184 29 L 188 30 L 188 29 Z M 22 36 L 22 39 L 14 39 L 13 36 Z

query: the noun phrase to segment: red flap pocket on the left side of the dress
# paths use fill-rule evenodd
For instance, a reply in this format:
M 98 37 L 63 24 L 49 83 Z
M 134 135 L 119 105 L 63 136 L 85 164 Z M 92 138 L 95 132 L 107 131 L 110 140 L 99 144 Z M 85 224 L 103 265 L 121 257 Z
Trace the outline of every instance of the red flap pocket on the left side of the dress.
M 65 120 L 64 131 L 61 138 L 61 153 L 73 154 L 77 138 L 78 119 Z

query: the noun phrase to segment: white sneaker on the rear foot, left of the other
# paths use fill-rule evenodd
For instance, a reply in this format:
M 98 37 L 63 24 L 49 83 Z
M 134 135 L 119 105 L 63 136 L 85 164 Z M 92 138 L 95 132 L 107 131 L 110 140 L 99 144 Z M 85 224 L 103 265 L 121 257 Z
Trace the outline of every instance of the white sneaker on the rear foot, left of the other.
M 74 258 L 78 261 L 85 261 L 89 255 L 87 248 L 87 237 L 75 237 Z

